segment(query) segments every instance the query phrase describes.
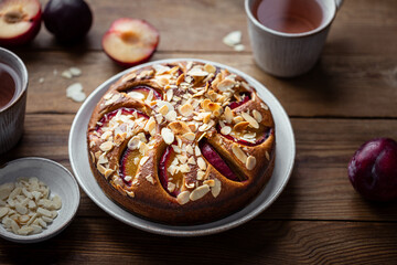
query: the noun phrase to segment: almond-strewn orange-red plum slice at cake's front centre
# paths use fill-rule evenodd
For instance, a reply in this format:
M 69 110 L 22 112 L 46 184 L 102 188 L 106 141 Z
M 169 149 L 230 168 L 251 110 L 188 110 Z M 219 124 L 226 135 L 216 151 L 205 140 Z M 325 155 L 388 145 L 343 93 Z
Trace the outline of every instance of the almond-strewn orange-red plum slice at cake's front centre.
M 169 168 L 171 167 L 173 160 L 175 159 L 175 151 L 173 150 L 172 146 L 168 146 L 164 153 L 161 156 L 160 163 L 159 163 L 159 178 L 161 186 L 163 189 L 170 193 L 172 197 L 178 197 L 178 194 L 181 192 L 181 189 L 178 187 L 174 187 L 171 191 L 169 190 L 169 183 L 183 183 L 183 173 L 178 172 L 171 176 L 169 172 Z M 172 181 L 171 181 L 172 180 Z

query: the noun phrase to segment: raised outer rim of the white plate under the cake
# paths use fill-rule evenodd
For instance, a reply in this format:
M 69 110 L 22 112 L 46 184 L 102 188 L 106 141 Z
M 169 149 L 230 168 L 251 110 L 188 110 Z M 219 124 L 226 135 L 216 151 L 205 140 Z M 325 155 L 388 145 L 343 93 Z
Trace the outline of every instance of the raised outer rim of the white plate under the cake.
M 240 211 L 238 211 L 238 212 L 236 212 L 236 213 L 234 213 L 234 214 L 232 214 L 232 215 L 229 215 L 229 216 L 227 216 L 225 219 L 222 219 L 222 220 L 218 220 L 218 221 L 215 221 L 215 222 L 211 222 L 211 223 L 200 224 L 200 225 L 178 226 L 178 225 L 167 225 L 167 224 L 162 224 L 162 223 L 157 223 L 157 222 L 149 221 L 149 220 L 146 220 L 143 218 L 140 218 L 138 215 L 133 215 L 132 213 L 124 210 L 117 203 L 115 203 L 109 198 L 107 198 L 104 192 L 100 195 L 94 194 L 89 190 L 89 188 L 85 186 L 84 179 L 81 176 L 82 172 L 78 171 L 77 163 L 82 162 L 82 161 L 78 161 L 78 160 L 75 161 L 74 155 L 76 155 L 75 151 L 78 150 L 78 146 L 77 147 L 75 146 L 76 144 L 73 142 L 73 139 L 75 139 L 75 137 L 77 137 L 77 138 L 78 137 L 84 137 L 85 138 L 84 141 L 86 144 L 86 131 L 84 131 L 83 136 L 78 136 L 77 135 L 78 134 L 78 131 L 77 131 L 78 128 L 77 127 L 78 127 L 78 123 L 81 123 L 81 120 L 85 118 L 85 117 L 83 117 L 83 114 L 85 112 L 89 110 L 88 114 L 89 114 L 89 117 L 90 117 L 92 110 L 95 107 L 95 105 L 97 104 L 97 102 L 93 103 L 94 98 L 95 97 L 101 97 L 105 94 L 105 92 L 108 89 L 110 84 L 112 84 L 114 82 L 116 82 L 118 78 L 120 78 L 122 75 L 127 74 L 130 71 L 133 71 L 133 70 L 140 68 L 140 67 L 146 67 L 146 66 L 153 65 L 153 64 L 171 63 L 171 62 L 176 62 L 176 61 L 187 61 L 187 62 L 193 61 L 193 62 L 210 63 L 210 64 L 213 64 L 213 65 L 218 66 L 218 67 L 227 68 L 230 72 L 234 72 L 234 73 L 243 76 L 248 83 L 250 83 L 257 89 L 258 94 L 260 94 L 260 93 L 266 94 L 266 97 L 267 97 L 266 103 L 269 105 L 270 109 L 272 110 L 273 116 L 275 116 L 275 109 L 273 108 L 277 108 L 278 116 L 280 116 L 279 119 L 282 119 L 282 126 L 283 126 L 283 129 L 286 130 L 285 131 L 285 137 L 288 138 L 287 140 L 289 141 L 288 144 L 290 146 L 290 149 L 288 150 L 288 153 L 287 153 L 288 155 L 288 165 L 283 165 L 283 167 L 286 167 L 286 170 L 285 170 L 286 173 L 285 173 L 285 176 L 281 176 L 281 178 L 282 178 L 281 183 L 277 187 L 276 190 L 271 191 L 271 194 L 267 199 L 267 202 L 264 201 L 259 205 L 254 206 L 254 209 L 247 210 L 249 212 L 247 214 L 243 215 L 243 216 L 238 218 L 238 213 L 245 211 L 246 209 L 251 208 L 259 197 L 265 195 L 265 192 L 267 192 L 266 187 L 257 195 L 257 198 L 254 199 L 254 201 L 250 202 L 246 208 L 242 209 Z M 261 92 L 259 92 L 259 91 L 261 91 Z M 89 117 L 88 117 L 88 120 L 89 120 Z M 87 124 L 88 124 L 88 121 L 87 121 Z M 85 128 L 87 128 L 86 127 L 87 124 L 85 125 Z M 276 126 L 278 126 L 277 121 L 276 121 Z M 281 125 L 279 125 L 279 126 L 281 126 Z M 277 142 L 277 139 L 278 139 L 278 129 L 276 129 L 276 142 Z M 81 147 L 81 149 L 82 148 L 85 148 L 85 150 L 87 150 L 86 147 Z M 230 67 L 228 65 L 212 62 L 212 61 L 208 61 L 208 60 L 201 60 L 201 59 L 165 59 L 165 60 L 152 61 L 152 62 L 149 62 L 149 63 L 144 63 L 144 64 L 141 64 L 141 65 L 133 66 L 131 68 L 125 70 L 125 71 L 111 76 L 110 78 L 108 78 L 104 83 L 101 83 L 87 97 L 87 99 L 81 106 L 81 108 L 78 109 L 78 112 L 77 112 L 77 114 L 76 114 L 76 116 L 75 116 L 75 118 L 73 120 L 73 124 L 72 124 L 72 127 L 71 127 L 71 132 L 69 132 L 69 138 L 68 138 L 68 153 L 69 153 L 69 160 L 71 160 L 72 169 L 74 171 L 74 174 L 75 174 L 81 188 L 84 190 L 84 192 L 99 208 L 101 208 L 105 212 L 107 212 L 108 214 L 110 214 L 115 219 L 117 219 L 117 220 L 119 220 L 119 221 L 121 221 L 121 222 L 124 222 L 124 223 L 126 223 L 128 225 L 131 225 L 133 227 L 143 230 L 143 231 L 147 231 L 147 232 L 155 233 L 155 234 L 172 235 L 172 236 L 198 236 L 198 235 L 208 235 L 208 234 L 219 233 L 219 232 L 236 227 L 236 226 L 238 226 L 238 225 L 240 225 L 243 223 L 248 222 L 249 220 L 254 219 L 255 216 L 260 214 L 262 211 L 265 211 L 279 197 L 279 194 L 281 193 L 281 191 L 285 189 L 285 187 L 288 183 L 288 180 L 289 180 L 289 178 L 291 176 L 293 163 L 294 163 L 296 144 L 294 144 L 294 135 L 293 135 L 293 130 L 292 130 L 292 125 L 291 125 L 291 123 L 289 120 L 289 117 L 288 117 L 286 110 L 281 106 L 281 104 L 278 102 L 278 99 L 270 93 L 270 91 L 268 91 L 261 83 L 256 81 L 254 77 L 251 77 L 251 76 L 245 74 L 244 72 L 240 72 L 240 71 L 238 71 L 238 70 L 236 70 L 234 67 Z M 277 152 L 276 152 L 276 155 L 277 155 Z M 85 157 L 87 158 L 87 161 L 88 161 L 88 152 L 87 151 L 86 151 Z M 278 156 L 276 156 L 276 158 Z M 89 167 L 89 165 L 88 165 L 88 167 Z M 276 169 L 276 167 L 277 167 L 277 165 L 275 166 L 275 169 Z M 273 174 L 275 174 L 275 172 L 273 172 Z M 89 176 L 89 178 L 92 178 L 92 180 L 94 180 L 95 184 L 98 186 L 93 174 Z M 271 181 L 271 179 L 270 179 L 270 181 Z M 101 195 L 105 195 L 106 198 L 100 198 Z M 108 203 L 110 203 L 114 206 L 121 210 L 122 215 L 117 213 L 115 210 L 109 209 L 108 206 L 104 205 L 99 201 L 100 199 L 106 200 Z

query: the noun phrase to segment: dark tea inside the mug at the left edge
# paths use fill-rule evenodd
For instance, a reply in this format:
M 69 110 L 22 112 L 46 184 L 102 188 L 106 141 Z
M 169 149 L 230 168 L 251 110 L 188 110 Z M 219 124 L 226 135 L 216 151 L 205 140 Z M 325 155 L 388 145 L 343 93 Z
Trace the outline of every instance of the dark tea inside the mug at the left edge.
M 17 93 L 18 77 L 15 71 L 0 63 L 0 110 L 13 99 Z

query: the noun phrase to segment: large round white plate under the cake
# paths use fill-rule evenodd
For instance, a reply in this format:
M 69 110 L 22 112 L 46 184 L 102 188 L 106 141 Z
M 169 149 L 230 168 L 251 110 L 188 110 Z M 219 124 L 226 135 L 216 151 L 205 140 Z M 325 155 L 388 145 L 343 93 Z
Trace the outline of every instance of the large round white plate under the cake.
M 120 78 L 124 74 L 139 67 L 144 67 L 152 64 L 159 63 L 170 63 L 175 61 L 196 61 L 203 63 L 211 63 L 215 66 L 227 68 L 229 72 L 236 73 L 237 75 L 243 76 L 251 86 L 254 86 L 259 96 L 265 100 L 265 103 L 270 107 L 273 115 L 276 124 L 276 166 L 273 174 L 270 181 L 267 183 L 262 192 L 246 208 L 236 212 L 225 219 L 200 224 L 200 225 L 167 225 L 152 221 L 148 221 L 140 216 L 137 216 L 111 201 L 103 190 L 97 184 L 89 167 L 88 162 L 88 151 L 87 151 L 87 141 L 86 141 L 86 131 L 88 120 L 92 116 L 92 112 L 95 108 L 96 104 L 99 102 L 100 97 L 107 92 L 109 86 Z M 195 236 L 195 235 L 207 235 L 214 234 L 222 231 L 226 231 L 233 227 L 236 227 L 253 218 L 257 216 L 265 209 L 267 209 L 281 193 L 286 187 L 289 177 L 292 171 L 294 156 L 296 156 L 296 145 L 293 138 L 293 131 L 291 123 L 286 114 L 286 110 L 282 108 L 277 98 L 258 81 L 254 80 L 249 75 L 223 65 L 219 63 L 197 60 L 197 59 L 172 59 L 172 60 L 160 60 L 155 62 L 150 62 L 141 64 L 139 66 L 126 70 L 98 86 L 85 100 L 83 106 L 79 108 L 71 128 L 69 140 L 68 140 L 68 151 L 69 159 L 73 171 L 79 182 L 82 189 L 87 193 L 87 195 L 104 211 L 109 213 L 111 216 L 120 220 L 121 222 L 135 226 L 137 229 L 163 234 L 163 235 L 173 235 L 173 236 Z

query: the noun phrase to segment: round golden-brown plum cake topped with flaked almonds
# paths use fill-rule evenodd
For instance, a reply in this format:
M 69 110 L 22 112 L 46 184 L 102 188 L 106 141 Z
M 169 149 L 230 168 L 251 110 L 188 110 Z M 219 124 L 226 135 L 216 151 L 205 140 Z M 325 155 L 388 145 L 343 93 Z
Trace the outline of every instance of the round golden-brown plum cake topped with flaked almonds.
M 92 171 L 128 211 L 168 224 L 229 215 L 275 166 L 275 124 L 254 87 L 200 62 L 154 64 L 110 86 L 87 130 Z

